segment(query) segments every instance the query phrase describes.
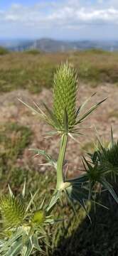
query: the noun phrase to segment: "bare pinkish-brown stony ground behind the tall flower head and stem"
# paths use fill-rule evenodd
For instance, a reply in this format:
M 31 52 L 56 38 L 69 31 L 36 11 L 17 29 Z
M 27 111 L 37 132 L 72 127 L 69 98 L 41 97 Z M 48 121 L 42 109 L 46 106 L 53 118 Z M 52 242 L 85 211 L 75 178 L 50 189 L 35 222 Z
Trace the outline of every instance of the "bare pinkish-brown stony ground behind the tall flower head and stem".
M 114 138 L 118 139 L 118 88 L 112 84 L 98 85 L 96 88 L 90 87 L 90 85 L 80 84 L 78 95 L 77 95 L 77 105 L 79 106 L 87 97 L 90 97 L 93 92 L 97 94 L 92 97 L 88 107 L 93 105 L 96 102 L 108 97 L 105 102 L 98 107 L 95 112 L 93 112 L 90 117 L 87 117 L 86 121 L 81 125 L 82 134 L 84 136 L 77 137 L 77 142 L 73 139 L 69 139 L 68 142 L 68 151 L 66 158 L 68 159 L 68 172 L 73 176 L 73 171 L 76 174 L 79 173 L 81 168 L 81 159 L 80 156 L 91 147 L 91 142 L 95 140 L 95 129 L 94 125 L 97 128 L 98 133 L 102 139 L 109 140 L 110 135 L 110 126 L 114 131 Z M 43 89 L 40 94 L 33 95 L 27 90 L 16 90 L 13 92 L 1 93 L 0 95 L 0 106 L 1 106 L 1 116 L 0 122 L 4 124 L 5 122 L 18 122 L 19 124 L 26 125 L 31 127 L 33 131 L 31 148 L 45 149 L 50 153 L 55 159 L 58 157 L 58 148 L 59 148 L 59 138 L 58 137 L 46 137 L 45 132 L 50 131 L 50 127 L 47 124 L 42 122 L 38 115 L 34 112 L 31 112 L 26 108 L 21 102 L 18 101 L 19 97 L 24 102 L 33 105 L 33 101 L 38 105 L 41 105 L 41 102 L 45 102 L 48 106 L 53 104 L 53 92 L 52 90 Z M 23 154 L 23 159 L 18 159 L 18 165 L 29 165 L 29 160 L 32 158 L 33 153 L 25 150 Z M 42 157 L 32 159 L 36 169 L 40 171 L 45 171 L 45 166 L 39 166 L 44 162 Z

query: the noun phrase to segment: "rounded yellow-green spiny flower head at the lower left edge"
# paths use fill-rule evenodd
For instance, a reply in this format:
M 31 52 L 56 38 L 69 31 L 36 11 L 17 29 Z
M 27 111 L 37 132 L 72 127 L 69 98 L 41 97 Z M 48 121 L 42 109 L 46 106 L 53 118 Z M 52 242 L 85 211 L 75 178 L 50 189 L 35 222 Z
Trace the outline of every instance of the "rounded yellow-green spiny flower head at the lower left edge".
M 17 198 L 3 196 L 0 200 L 1 217 L 4 228 L 20 225 L 25 215 L 25 206 Z

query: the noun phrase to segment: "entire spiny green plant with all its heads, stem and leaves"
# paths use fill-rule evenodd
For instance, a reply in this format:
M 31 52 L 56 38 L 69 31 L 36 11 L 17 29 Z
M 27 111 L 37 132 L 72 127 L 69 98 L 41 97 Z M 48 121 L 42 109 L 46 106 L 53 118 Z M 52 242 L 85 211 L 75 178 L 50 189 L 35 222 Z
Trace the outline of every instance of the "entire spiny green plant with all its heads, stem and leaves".
M 54 75 L 52 110 L 45 103 L 45 111 L 43 111 L 36 104 L 36 108 L 33 108 L 23 102 L 24 105 L 36 112 L 41 119 L 50 125 L 52 130 L 48 132 L 49 136 L 57 134 L 60 137 L 57 161 L 44 150 L 31 149 L 36 156 L 45 156 L 46 164 L 55 169 L 56 183 L 53 188 L 53 195 L 50 194 L 50 200 L 45 202 L 45 198 L 43 198 L 41 203 L 38 203 L 38 207 L 35 203 L 38 191 L 34 195 L 31 193 L 29 203 L 25 201 L 26 183 L 24 183 L 22 195 L 19 198 L 14 196 L 11 188 L 9 188 L 9 196 L 1 196 L 1 255 L 28 256 L 37 250 L 39 253 L 43 253 L 43 245 L 48 241 L 46 233 L 48 225 L 55 225 L 58 221 L 64 221 L 55 218 L 54 215 L 60 202 L 63 203 L 64 207 L 66 207 L 65 202 L 67 202 L 75 212 L 78 203 L 82 210 L 85 210 L 85 216 L 87 215 L 89 218 L 92 202 L 97 203 L 97 194 L 102 193 L 104 189 L 109 191 L 118 203 L 117 194 L 112 186 L 112 178 L 115 182 L 118 174 L 118 145 L 117 142 L 114 142 L 112 129 L 112 139 L 108 147 L 104 147 L 97 136 L 95 151 L 92 154 L 88 153 L 89 158 L 87 157 L 87 159 L 83 156 L 84 172 L 81 176 L 68 179 L 64 174 L 68 138 L 75 139 L 75 135 L 81 136 L 80 124 L 106 100 L 97 102 L 89 110 L 83 112 L 91 97 L 82 105 L 76 107 L 77 85 L 75 69 L 72 65 L 65 63 L 60 65 Z M 71 221 L 73 222 L 73 220 Z M 68 230 L 68 234 L 69 232 Z M 48 233 L 48 237 L 50 235 Z

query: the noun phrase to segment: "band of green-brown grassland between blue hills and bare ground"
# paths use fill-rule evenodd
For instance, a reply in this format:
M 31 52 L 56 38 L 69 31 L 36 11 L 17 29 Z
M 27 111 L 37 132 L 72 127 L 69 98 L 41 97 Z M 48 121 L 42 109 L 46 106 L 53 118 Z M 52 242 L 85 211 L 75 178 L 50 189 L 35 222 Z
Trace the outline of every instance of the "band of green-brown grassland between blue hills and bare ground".
M 99 82 L 118 83 L 118 53 L 103 50 L 86 50 L 70 53 L 40 53 L 38 50 L 24 53 L 1 54 L 0 91 L 19 88 L 40 92 L 51 87 L 53 73 L 58 64 L 68 59 L 77 68 L 80 81 L 97 86 Z

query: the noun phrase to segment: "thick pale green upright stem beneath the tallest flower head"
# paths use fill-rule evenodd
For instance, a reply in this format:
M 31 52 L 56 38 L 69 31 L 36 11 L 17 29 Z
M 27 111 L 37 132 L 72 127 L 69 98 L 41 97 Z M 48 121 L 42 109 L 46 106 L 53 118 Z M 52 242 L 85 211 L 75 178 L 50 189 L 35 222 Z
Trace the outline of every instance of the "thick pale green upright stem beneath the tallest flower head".
M 65 151 L 68 143 L 68 134 L 63 134 L 60 140 L 60 151 L 58 156 L 57 163 L 57 186 L 56 188 L 60 188 L 63 183 L 63 162 L 65 160 Z

